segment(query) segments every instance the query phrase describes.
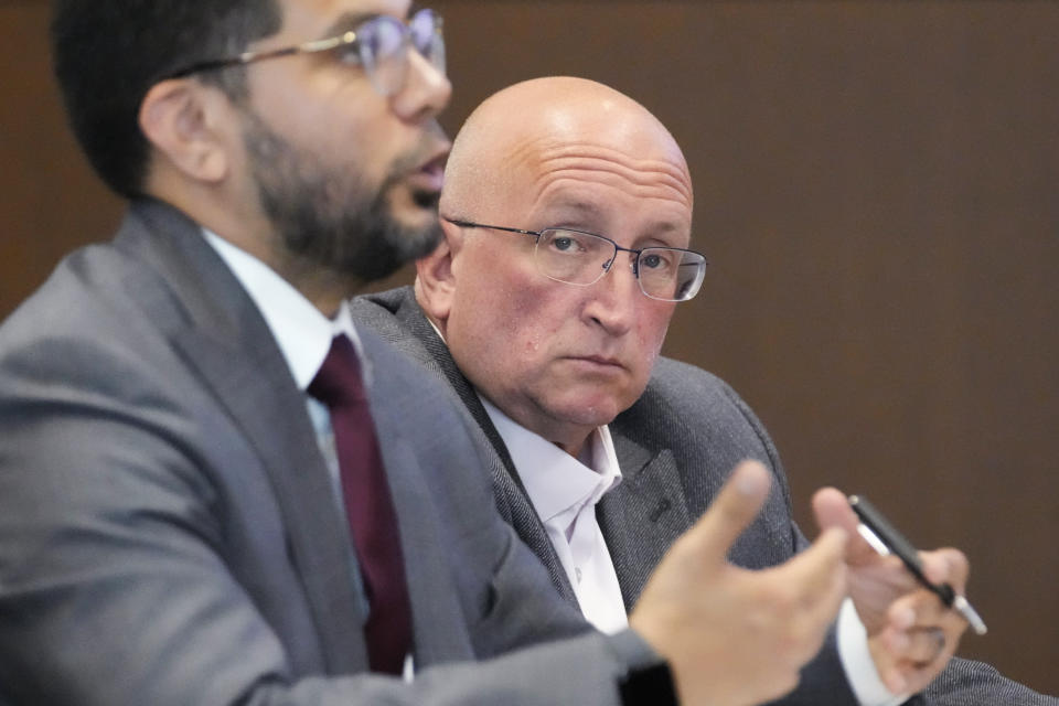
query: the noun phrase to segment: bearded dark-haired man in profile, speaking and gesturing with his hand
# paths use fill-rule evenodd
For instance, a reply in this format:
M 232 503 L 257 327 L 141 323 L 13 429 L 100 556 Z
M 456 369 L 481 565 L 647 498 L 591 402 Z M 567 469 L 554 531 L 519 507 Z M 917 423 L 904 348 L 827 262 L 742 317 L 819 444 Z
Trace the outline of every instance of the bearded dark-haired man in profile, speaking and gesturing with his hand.
M 436 238 L 450 86 L 408 4 L 56 0 L 74 131 L 130 205 L 0 328 L 0 703 L 736 705 L 817 652 L 846 533 L 729 566 L 760 464 L 605 637 L 446 391 L 353 328 Z

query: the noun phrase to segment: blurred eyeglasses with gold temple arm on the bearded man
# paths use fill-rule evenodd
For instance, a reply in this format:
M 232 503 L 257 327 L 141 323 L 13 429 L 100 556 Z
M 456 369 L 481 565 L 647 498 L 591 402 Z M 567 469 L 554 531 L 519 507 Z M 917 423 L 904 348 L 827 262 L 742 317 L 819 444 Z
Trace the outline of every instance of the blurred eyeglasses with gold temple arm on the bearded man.
M 333 51 L 341 63 L 363 66 L 375 90 L 383 96 L 392 96 L 405 85 L 409 46 L 414 46 L 435 69 L 445 74 L 445 36 L 441 26 L 441 15 L 429 9 L 419 10 L 407 23 L 395 17 L 381 14 L 339 36 L 313 40 L 297 46 L 244 52 L 228 58 L 197 62 L 172 72 L 164 78 L 183 78 L 191 74 L 249 64 L 263 58 Z

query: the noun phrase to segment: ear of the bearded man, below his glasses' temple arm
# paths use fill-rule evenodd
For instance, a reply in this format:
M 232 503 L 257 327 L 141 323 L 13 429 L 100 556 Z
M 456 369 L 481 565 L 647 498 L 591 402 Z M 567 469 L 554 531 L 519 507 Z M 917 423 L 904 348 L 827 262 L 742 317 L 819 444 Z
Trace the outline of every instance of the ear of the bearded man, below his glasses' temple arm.
M 174 169 L 196 181 L 216 183 L 232 167 L 224 129 L 231 113 L 220 88 L 193 78 L 171 78 L 147 92 L 139 122 L 156 153 Z

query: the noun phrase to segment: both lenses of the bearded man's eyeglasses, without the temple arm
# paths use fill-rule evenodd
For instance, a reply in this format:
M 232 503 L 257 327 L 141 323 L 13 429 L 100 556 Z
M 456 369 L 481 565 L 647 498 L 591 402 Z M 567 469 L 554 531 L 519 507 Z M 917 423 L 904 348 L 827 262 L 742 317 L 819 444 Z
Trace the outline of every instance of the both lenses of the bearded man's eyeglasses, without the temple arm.
M 410 43 L 431 66 L 445 73 L 445 41 L 434 10 L 416 12 L 406 25 L 397 18 L 379 15 L 357 30 L 360 60 L 375 89 L 389 96 L 405 84 Z

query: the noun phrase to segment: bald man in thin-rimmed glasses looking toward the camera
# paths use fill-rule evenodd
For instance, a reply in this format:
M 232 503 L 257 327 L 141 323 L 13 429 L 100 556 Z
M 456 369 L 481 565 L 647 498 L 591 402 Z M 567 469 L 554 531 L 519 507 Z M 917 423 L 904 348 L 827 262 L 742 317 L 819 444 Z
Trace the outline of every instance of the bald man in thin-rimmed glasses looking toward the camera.
M 556 589 L 609 632 L 639 628 L 627 612 L 648 576 L 740 459 L 761 461 L 773 483 L 730 560 L 772 566 L 807 544 L 751 410 L 716 377 L 659 357 L 676 303 L 703 278 L 705 260 L 688 249 L 692 199 L 680 148 L 635 101 L 576 78 L 517 84 L 483 103 L 454 142 L 445 240 L 419 261 L 415 292 L 354 304 L 451 384 L 494 452 L 505 518 Z M 837 491 L 814 504 L 822 526 L 854 528 Z M 934 580 L 963 590 L 961 553 L 923 557 Z M 839 644 L 827 643 L 785 703 L 902 703 L 956 649 L 965 623 L 896 561 L 856 541 L 847 564 Z M 966 699 L 995 677 L 961 668 L 943 703 L 976 703 Z

